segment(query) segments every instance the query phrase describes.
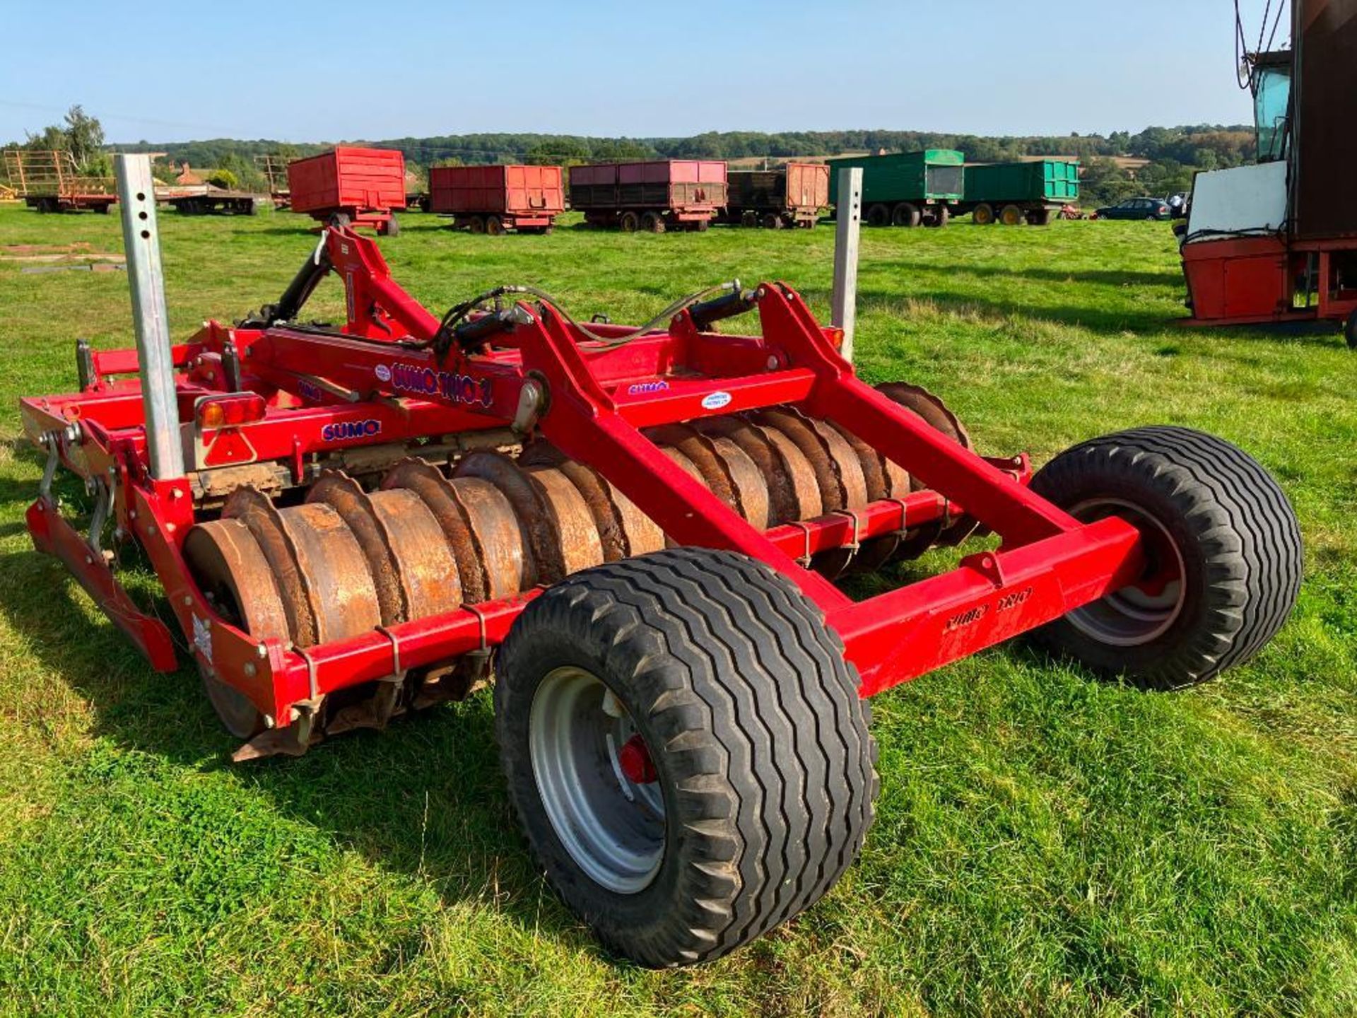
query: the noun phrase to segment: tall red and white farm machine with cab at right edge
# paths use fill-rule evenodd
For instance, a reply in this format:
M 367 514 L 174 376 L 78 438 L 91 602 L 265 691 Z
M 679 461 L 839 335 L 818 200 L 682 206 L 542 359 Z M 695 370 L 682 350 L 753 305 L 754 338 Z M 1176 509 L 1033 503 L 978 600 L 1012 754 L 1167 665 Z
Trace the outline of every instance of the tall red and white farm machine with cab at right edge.
M 1291 49 L 1244 61 L 1258 163 L 1193 179 L 1183 324 L 1335 322 L 1357 349 L 1357 0 L 1291 15 Z

